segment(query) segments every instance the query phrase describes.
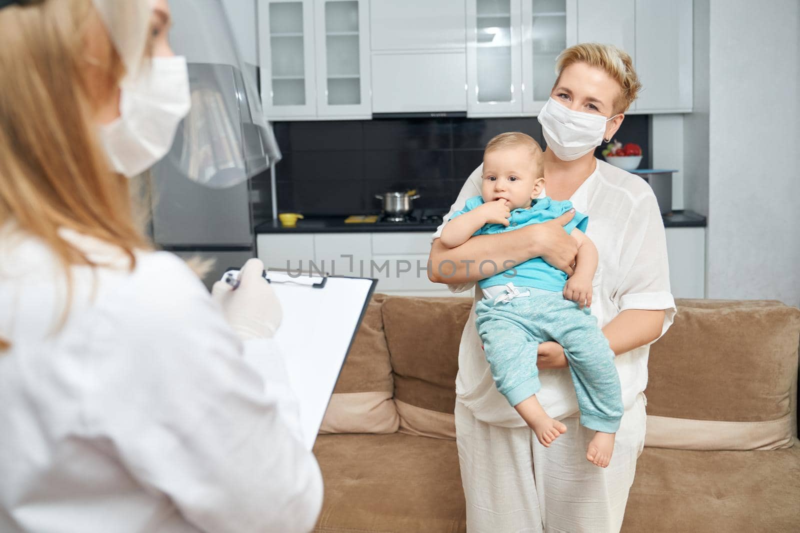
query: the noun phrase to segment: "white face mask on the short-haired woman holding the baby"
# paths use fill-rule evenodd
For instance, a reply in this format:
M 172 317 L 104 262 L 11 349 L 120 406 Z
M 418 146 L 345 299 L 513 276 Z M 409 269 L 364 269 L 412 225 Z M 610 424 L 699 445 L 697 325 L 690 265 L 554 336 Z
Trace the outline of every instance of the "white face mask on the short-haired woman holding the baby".
M 573 111 L 550 98 L 539 111 L 538 121 L 542 125 L 547 146 L 555 157 L 562 161 L 574 161 L 600 145 L 606 133 L 606 122 L 611 118 Z

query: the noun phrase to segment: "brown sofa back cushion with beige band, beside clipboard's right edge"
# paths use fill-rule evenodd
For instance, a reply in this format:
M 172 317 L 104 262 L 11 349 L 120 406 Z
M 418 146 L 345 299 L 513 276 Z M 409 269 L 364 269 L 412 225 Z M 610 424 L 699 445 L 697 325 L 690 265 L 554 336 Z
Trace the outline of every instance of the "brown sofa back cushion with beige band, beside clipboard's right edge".
M 394 433 L 398 430 L 400 419 L 392 398 L 394 381 L 381 316 L 385 297 L 376 294 L 367 304 L 364 320 L 347 353 L 322 419 L 320 433 Z

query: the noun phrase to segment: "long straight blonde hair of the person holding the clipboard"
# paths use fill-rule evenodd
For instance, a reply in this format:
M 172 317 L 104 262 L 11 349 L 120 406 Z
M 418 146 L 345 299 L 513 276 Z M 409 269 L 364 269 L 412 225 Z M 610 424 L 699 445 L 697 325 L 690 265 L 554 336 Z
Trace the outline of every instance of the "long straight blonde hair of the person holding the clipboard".
M 88 57 L 87 30 L 97 28 L 104 26 L 91 0 L 29 0 L 0 10 L 0 226 L 13 221 L 58 257 L 67 301 L 70 268 L 97 265 L 59 229 L 118 247 L 131 269 L 134 251 L 150 248 L 128 181 L 109 169 L 98 144 L 93 101 L 99 89 L 118 90 L 125 66 L 110 39 L 106 57 Z M 99 66 L 99 89 L 89 65 Z

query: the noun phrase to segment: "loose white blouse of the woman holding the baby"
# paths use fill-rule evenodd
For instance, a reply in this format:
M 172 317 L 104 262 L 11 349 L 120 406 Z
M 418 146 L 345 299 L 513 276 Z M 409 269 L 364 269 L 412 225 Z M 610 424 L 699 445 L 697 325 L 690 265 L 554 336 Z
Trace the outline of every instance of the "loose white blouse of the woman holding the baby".
M 433 239 L 442 234 L 452 213 L 462 209 L 467 198 L 481 193 L 481 173 L 482 165 L 470 174 Z M 598 160 L 597 169 L 570 201 L 575 209 L 589 215 L 586 234 L 600 256 L 592 283 L 591 308 L 598 325 L 605 326 L 626 309 L 665 309 L 663 335 L 672 324 L 676 309 L 670 293 L 664 224 L 650 185 L 641 177 Z M 462 292 L 474 285 L 453 284 L 450 290 Z M 480 291 L 476 291 L 475 301 L 480 298 Z M 646 345 L 615 359 L 626 409 L 647 386 L 649 354 L 650 345 Z M 550 416 L 564 418 L 578 411 L 568 368 L 542 370 L 539 378 L 542 389 L 537 397 Z M 525 425 L 494 386 L 475 328 L 474 303 L 458 350 L 456 394 L 478 420 L 508 428 Z

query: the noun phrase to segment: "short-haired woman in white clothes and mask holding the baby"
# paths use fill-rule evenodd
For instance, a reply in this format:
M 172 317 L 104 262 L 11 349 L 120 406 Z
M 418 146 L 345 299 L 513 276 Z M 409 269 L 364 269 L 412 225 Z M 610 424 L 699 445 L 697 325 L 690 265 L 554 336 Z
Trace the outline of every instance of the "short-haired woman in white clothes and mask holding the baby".
M 566 433 L 543 447 L 495 387 L 473 308 L 458 353 L 455 406 L 468 531 L 619 531 L 644 446 L 649 345 L 666 332 L 675 313 L 666 236 L 652 189 L 594 157 L 594 148 L 616 133 L 640 89 L 630 56 L 614 46 L 580 44 L 558 57 L 557 74 L 538 115 L 547 144 L 546 196 L 570 200 L 589 216 L 586 235 L 599 253 L 591 310 L 617 355 L 625 412 L 610 464 L 590 463 L 582 451 L 594 432 L 578 423 L 563 348 L 543 342 L 530 354 L 530 364 L 542 371 L 537 397 L 549 416 L 566 425 Z M 478 167 L 470 175 L 450 214 L 480 194 L 481 173 Z M 430 278 L 454 292 L 482 277 L 469 268 L 474 263 L 518 265 L 542 257 L 573 272 L 577 246 L 562 228 L 570 213 L 446 249 L 438 237 L 450 214 L 434 234 Z

